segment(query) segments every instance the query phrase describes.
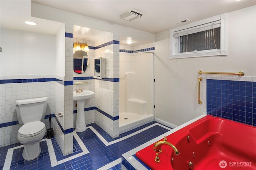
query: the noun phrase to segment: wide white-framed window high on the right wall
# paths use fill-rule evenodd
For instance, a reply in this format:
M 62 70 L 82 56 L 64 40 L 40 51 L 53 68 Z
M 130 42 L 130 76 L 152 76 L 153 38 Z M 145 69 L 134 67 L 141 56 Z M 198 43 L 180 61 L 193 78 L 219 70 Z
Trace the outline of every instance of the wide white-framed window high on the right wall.
M 170 59 L 228 55 L 227 14 L 170 29 Z

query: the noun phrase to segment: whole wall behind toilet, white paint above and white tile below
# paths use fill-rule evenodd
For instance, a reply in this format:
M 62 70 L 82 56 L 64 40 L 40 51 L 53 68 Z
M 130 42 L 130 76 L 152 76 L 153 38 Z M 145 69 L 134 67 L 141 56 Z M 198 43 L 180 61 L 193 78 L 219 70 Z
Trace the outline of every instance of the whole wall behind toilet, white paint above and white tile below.
M 1 45 L 1 80 L 54 78 L 54 35 L 1 28 Z M 14 123 L 0 128 L 1 147 L 19 142 L 16 100 L 48 97 L 46 115 L 54 113 L 54 82 L 2 83 L 0 97 L 0 123 Z M 49 128 L 48 119 L 43 122 Z

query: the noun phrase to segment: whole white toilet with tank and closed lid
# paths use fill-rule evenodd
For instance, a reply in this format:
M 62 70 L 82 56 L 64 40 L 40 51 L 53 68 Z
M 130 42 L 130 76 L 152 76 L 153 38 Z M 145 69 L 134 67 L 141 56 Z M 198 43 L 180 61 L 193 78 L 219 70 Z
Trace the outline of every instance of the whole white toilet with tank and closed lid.
M 25 160 L 37 158 L 41 152 L 40 140 L 46 133 L 42 122 L 46 112 L 47 97 L 16 101 L 19 124 L 18 140 L 24 145 L 22 156 Z

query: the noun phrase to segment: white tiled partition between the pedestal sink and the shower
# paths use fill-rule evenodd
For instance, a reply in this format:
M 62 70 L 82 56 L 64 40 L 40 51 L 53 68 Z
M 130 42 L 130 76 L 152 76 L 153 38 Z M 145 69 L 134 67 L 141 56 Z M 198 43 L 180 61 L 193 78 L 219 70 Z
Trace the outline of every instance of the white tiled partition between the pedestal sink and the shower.
M 119 36 L 106 33 L 97 45 L 117 40 Z M 119 45 L 112 44 L 95 50 L 95 57 L 106 58 L 106 78 L 119 78 Z M 112 117 L 119 115 L 119 82 L 95 80 L 95 106 Z M 100 125 L 112 137 L 119 135 L 119 120 L 112 121 L 102 113 L 95 111 L 95 123 Z

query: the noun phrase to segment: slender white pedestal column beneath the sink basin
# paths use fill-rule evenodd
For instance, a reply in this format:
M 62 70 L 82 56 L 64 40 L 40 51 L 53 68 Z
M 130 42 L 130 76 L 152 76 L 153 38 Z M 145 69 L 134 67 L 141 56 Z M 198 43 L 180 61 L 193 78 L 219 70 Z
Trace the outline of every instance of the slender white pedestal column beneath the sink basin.
M 84 101 L 85 100 L 77 100 L 77 113 L 76 113 L 76 131 L 83 132 L 86 130 L 85 125 L 85 114 L 84 114 Z

